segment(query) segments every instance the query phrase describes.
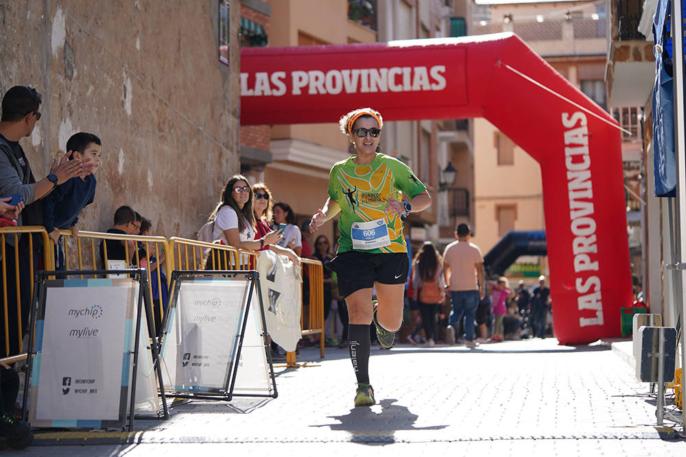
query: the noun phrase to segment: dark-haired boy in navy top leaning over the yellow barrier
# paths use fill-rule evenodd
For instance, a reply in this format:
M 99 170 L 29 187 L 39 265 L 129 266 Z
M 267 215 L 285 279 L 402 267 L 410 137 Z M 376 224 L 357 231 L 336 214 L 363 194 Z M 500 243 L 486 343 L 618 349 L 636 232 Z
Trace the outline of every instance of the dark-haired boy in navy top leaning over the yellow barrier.
M 58 186 L 43 199 L 43 225 L 48 236 L 56 245 L 56 269 L 64 270 L 64 240 L 59 229 L 70 229 L 72 238 L 78 236 L 76 223 L 79 214 L 86 206 L 93 203 L 95 197 L 95 171 L 100 164 L 102 142 L 94 134 L 79 132 L 67 140 L 69 160 L 89 160 L 93 164 L 91 174 L 72 177 Z

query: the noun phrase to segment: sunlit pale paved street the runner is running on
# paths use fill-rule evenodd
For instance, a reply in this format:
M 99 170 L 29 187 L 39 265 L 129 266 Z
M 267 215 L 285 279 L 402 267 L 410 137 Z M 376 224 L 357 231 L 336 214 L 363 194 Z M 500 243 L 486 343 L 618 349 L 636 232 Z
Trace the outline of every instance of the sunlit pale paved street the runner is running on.
M 176 406 L 168 421 L 137 421 L 137 444 L 106 444 L 120 433 L 37 434 L 25 454 L 686 453 L 686 442 L 660 438 L 648 384 L 606 345 L 558 346 L 549 338 L 472 350 L 372 347 L 371 408 L 353 408 L 347 351 L 327 349 L 322 361 L 318 349 L 300 352 L 299 362 L 311 362 L 277 367 L 276 399 Z M 77 442 L 87 445 L 59 444 Z

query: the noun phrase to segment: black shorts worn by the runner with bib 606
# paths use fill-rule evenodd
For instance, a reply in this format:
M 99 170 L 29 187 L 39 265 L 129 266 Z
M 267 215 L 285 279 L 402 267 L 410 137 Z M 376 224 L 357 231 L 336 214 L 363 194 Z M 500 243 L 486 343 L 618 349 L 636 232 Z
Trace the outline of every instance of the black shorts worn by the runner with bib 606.
M 406 252 L 370 254 L 360 251 L 341 252 L 329 267 L 338 275 L 338 292 L 342 297 L 364 288 L 381 284 L 405 284 L 410 271 Z

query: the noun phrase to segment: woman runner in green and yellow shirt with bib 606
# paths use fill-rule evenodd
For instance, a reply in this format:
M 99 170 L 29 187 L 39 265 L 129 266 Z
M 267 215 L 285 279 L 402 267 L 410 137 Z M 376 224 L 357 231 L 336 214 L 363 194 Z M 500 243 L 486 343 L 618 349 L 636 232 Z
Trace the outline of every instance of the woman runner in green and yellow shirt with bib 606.
M 338 253 L 330 265 L 338 275 L 350 317 L 355 406 L 369 406 L 375 404 L 368 374 L 369 324 L 374 323 L 381 346 L 390 348 L 403 323 L 404 284 L 410 267 L 402 218 L 427 208 L 431 197 L 407 165 L 379 153 L 383 129 L 379 112 L 361 108 L 342 116 L 339 123 L 353 143 L 353 156 L 333 165 L 329 198 L 312 217 L 310 232 L 340 212 Z M 372 304 L 372 288 L 377 306 Z

